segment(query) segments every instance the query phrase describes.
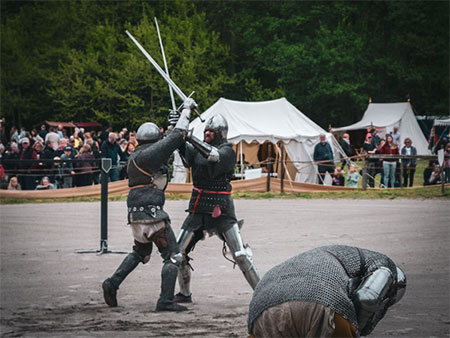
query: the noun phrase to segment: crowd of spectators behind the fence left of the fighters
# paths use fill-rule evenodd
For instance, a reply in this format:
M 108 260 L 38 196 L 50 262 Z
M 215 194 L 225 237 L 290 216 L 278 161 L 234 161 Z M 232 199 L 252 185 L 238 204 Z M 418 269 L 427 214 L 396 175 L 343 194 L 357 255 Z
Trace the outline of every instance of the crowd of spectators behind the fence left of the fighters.
M 0 184 L 8 190 L 41 190 L 99 183 L 99 160 L 110 158 L 111 182 L 127 178 L 126 161 L 137 145 L 136 132 L 66 129 L 43 124 L 39 131 L 12 127 L 0 134 Z M 28 160 L 28 161 L 23 161 Z M 72 161 L 76 160 L 76 161 Z

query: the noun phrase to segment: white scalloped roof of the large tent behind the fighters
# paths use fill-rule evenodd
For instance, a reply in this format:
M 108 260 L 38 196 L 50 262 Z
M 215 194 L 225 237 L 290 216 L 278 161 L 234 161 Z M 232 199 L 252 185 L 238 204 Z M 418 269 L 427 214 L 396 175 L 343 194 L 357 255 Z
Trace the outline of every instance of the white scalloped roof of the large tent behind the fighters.
M 208 120 L 215 114 L 222 114 L 228 122 L 228 140 L 248 143 L 267 140 L 272 142 L 302 140 L 328 134 L 311 121 L 286 98 L 261 102 L 243 102 L 220 98 L 201 116 Z M 205 124 L 197 117 L 191 122 L 194 135 L 203 139 Z

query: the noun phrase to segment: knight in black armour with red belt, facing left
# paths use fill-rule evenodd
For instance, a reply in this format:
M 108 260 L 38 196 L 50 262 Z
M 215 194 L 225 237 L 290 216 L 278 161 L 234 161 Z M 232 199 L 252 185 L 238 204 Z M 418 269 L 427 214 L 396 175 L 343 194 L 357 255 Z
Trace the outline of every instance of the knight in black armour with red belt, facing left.
M 241 222 L 238 224 L 234 211 L 230 180 L 236 155 L 231 143 L 227 141 L 227 133 L 227 121 L 218 114 L 206 122 L 204 141 L 188 135 L 188 142 L 180 148 L 184 165 L 192 168 L 193 190 L 189 201 L 189 215 L 178 236 L 183 254 L 178 274 L 180 292 L 175 295 L 175 300 L 179 303 L 192 302 L 188 254 L 206 233 L 210 236 L 217 235 L 224 242 L 224 250 L 229 248 L 234 261 L 253 289 L 259 281 L 250 247 L 242 240 Z

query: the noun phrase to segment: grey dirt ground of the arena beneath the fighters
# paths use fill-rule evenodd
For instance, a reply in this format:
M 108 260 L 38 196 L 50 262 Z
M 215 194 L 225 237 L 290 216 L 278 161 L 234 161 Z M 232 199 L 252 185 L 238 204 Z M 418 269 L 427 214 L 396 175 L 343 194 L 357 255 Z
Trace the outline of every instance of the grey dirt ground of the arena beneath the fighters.
M 445 200 L 236 200 L 244 241 L 263 275 L 311 248 L 346 244 L 381 251 L 408 279 L 374 337 L 449 337 L 450 203 Z M 176 234 L 187 201 L 168 201 Z M 130 250 L 125 202 L 109 203 L 110 250 Z M 155 312 L 161 258 L 154 252 L 122 284 L 119 307 L 103 302 L 102 281 L 123 254 L 99 249 L 100 204 L 1 205 L 2 337 L 246 337 L 252 290 L 207 238 L 192 257 L 194 303 Z

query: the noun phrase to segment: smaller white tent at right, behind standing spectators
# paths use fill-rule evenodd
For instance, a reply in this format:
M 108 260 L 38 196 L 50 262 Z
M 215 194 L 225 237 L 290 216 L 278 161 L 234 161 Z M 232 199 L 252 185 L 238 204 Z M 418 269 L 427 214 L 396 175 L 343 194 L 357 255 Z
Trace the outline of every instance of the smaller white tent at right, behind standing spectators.
M 418 155 L 430 154 L 428 142 L 417 123 L 416 116 L 409 102 L 400 103 L 369 103 L 361 121 L 352 125 L 334 128 L 335 131 L 358 130 L 375 127 L 380 137 L 393 131 L 398 127 L 401 144 L 405 138 L 412 140 L 413 146 L 417 148 Z

